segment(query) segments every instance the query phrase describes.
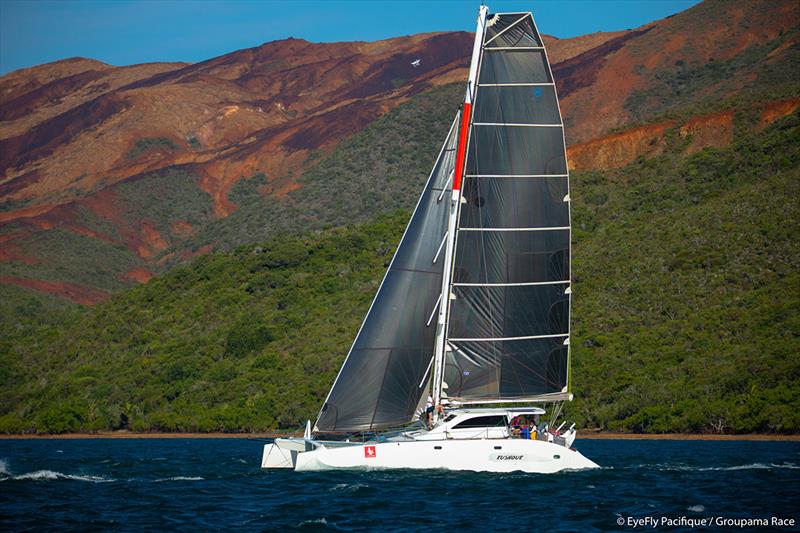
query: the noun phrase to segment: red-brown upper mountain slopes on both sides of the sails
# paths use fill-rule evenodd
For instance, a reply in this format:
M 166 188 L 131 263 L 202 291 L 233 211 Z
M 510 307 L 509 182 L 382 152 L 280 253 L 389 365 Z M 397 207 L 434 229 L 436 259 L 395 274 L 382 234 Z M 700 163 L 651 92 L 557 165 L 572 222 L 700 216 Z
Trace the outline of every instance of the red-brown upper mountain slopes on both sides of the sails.
M 576 168 L 657 155 L 675 124 L 695 149 L 727 144 L 736 109 L 800 94 L 799 23 L 796 2 L 712 0 L 641 28 L 546 37 Z M 3 76 L 0 293 L 13 285 L 92 304 L 301 220 L 317 228 L 410 207 L 457 108 L 459 90 L 445 87 L 463 84 L 470 43 L 466 33 L 290 39 L 193 65 L 78 58 Z M 424 95 L 433 100 L 391 119 L 407 122 L 363 135 Z M 393 127 L 374 156 L 369 143 Z M 327 160 L 342 141 L 367 144 Z M 375 201 L 317 205 L 351 186 L 341 154 L 378 168 L 392 157 L 391 194 L 371 174 L 358 183 Z

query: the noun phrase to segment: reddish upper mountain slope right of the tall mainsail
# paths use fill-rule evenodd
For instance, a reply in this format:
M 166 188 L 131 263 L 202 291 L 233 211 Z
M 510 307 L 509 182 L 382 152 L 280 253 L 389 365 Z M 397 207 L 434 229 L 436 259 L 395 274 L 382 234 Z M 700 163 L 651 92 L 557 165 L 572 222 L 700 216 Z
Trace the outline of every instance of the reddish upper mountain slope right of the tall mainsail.
M 685 107 L 798 94 L 796 2 L 707 0 L 554 66 L 570 144 Z

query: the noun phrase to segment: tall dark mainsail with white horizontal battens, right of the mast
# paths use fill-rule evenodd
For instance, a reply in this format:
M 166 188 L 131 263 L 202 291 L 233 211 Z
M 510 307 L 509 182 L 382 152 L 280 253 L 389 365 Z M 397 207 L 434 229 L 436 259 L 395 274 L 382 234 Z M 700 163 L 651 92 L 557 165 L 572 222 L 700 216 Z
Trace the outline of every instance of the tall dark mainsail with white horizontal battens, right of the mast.
M 567 396 L 569 185 L 530 13 L 489 15 L 456 233 L 444 381 L 463 403 Z

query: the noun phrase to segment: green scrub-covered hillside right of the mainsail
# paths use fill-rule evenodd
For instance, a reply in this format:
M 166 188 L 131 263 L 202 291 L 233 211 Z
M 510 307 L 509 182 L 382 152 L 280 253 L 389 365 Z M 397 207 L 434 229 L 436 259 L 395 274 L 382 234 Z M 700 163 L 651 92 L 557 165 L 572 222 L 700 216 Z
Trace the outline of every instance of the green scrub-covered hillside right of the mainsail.
M 573 176 L 570 413 L 636 432 L 800 431 L 800 117 Z

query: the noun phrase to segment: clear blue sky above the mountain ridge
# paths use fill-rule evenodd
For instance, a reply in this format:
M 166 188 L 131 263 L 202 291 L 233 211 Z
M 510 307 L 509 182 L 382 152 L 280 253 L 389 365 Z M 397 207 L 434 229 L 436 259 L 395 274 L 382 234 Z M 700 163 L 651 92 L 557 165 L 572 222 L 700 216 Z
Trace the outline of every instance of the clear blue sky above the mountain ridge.
M 635 28 L 698 0 L 492 0 L 533 11 L 542 33 L 574 37 Z M 374 41 L 475 30 L 480 1 L 0 0 L 0 74 L 67 57 L 112 65 L 196 62 L 265 42 Z

